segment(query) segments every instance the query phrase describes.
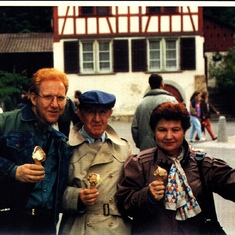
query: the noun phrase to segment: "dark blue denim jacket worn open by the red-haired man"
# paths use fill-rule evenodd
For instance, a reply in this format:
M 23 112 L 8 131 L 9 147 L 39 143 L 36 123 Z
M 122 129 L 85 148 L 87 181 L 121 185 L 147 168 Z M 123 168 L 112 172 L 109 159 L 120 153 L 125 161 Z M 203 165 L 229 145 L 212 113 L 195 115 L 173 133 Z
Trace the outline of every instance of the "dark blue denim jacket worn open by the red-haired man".
M 50 130 L 58 158 L 54 204 L 57 220 L 67 180 L 69 149 L 66 137 L 53 128 Z M 10 173 L 15 165 L 33 163 L 32 152 L 37 145 L 37 136 L 43 131 L 45 127 L 37 119 L 30 105 L 0 115 L 0 209 L 11 208 L 17 211 L 24 208 L 34 184 L 19 182 Z

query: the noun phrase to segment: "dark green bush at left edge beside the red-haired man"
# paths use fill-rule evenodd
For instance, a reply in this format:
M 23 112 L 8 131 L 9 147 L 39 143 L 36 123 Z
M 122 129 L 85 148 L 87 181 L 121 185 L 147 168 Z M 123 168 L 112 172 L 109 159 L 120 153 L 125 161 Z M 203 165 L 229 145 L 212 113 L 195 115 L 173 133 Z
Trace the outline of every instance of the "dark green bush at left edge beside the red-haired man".
M 4 111 L 15 109 L 21 92 L 28 90 L 29 79 L 23 75 L 0 70 L 0 101 Z

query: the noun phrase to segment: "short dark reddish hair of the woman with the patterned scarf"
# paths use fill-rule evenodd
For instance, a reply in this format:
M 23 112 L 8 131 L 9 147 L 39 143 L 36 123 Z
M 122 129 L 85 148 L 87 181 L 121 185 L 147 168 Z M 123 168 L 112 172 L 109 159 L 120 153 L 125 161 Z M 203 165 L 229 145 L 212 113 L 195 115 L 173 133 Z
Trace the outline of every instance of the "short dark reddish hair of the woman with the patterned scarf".
M 161 119 L 167 121 L 181 121 L 184 132 L 190 127 L 190 116 L 184 103 L 173 104 L 171 102 L 166 102 L 158 105 L 150 116 L 150 127 L 152 131 L 155 131 L 155 128 Z

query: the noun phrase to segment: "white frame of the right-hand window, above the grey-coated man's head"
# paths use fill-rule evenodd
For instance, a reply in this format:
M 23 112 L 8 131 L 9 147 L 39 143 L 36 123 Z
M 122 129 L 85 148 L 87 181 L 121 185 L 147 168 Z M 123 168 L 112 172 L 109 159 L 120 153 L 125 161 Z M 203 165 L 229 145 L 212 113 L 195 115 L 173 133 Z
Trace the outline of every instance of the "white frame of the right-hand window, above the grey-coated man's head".
M 151 52 L 154 50 L 150 49 L 150 42 L 158 41 L 160 45 L 160 67 L 157 68 L 151 68 L 151 62 L 154 61 L 154 58 L 151 57 Z M 173 58 L 167 58 L 167 41 L 175 41 L 175 48 L 169 49 L 173 51 L 173 54 L 175 57 Z M 179 60 L 180 60 L 180 53 L 179 53 L 179 39 L 178 38 L 150 38 L 147 40 L 147 65 L 148 65 L 148 71 L 178 71 L 179 70 Z M 159 60 L 159 58 L 156 59 L 156 61 Z M 167 61 L 172 60 L 175 62 L 175 66 L 167 66 Z

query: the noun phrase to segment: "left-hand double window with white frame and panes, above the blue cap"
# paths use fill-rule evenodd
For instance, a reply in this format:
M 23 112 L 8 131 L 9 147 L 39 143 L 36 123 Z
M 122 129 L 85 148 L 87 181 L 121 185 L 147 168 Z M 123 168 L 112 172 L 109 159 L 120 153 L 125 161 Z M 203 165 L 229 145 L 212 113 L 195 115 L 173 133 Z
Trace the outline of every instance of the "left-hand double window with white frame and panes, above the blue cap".
M 81 73 L 112 72 L 111 41 L 83 41 L 81 46 Z

